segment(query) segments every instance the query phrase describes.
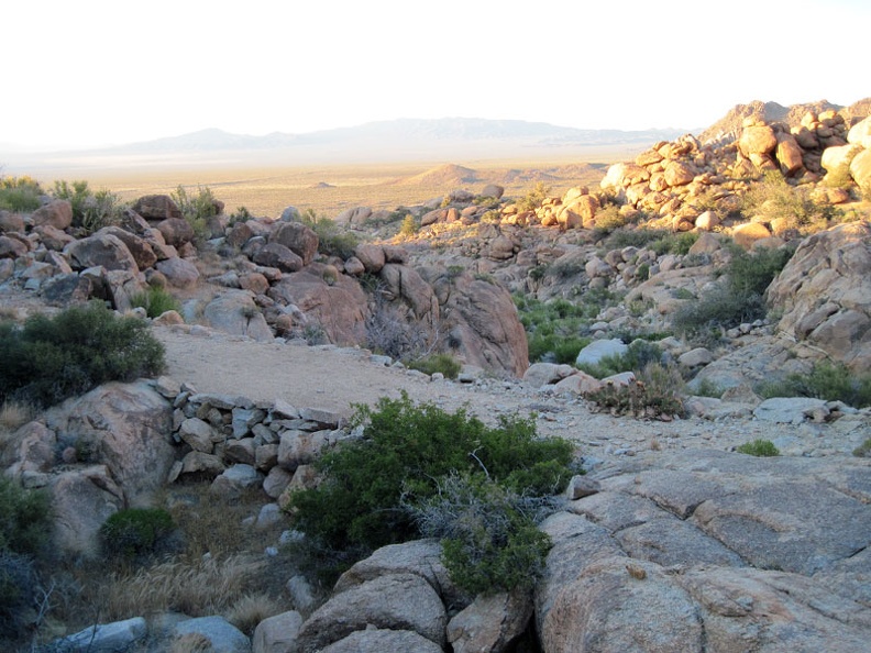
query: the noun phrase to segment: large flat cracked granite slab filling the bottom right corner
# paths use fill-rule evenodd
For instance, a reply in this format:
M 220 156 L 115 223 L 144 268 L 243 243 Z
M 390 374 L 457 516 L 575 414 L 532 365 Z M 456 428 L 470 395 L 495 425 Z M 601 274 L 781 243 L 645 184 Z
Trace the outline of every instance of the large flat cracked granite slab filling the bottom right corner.
M 861 650 L 870 473 L 716 451 L 611 469 L 543 524 L 543 650 Z

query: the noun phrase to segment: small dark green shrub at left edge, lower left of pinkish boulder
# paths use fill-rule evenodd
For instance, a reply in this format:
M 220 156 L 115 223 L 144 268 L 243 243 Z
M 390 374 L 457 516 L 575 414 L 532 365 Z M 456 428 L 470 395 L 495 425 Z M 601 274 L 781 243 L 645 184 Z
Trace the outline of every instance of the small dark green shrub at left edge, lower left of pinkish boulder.
M 36 555 L 47 543 L 51 529 L 48 495 L 24 489 L 0 475 L 0 551 Z

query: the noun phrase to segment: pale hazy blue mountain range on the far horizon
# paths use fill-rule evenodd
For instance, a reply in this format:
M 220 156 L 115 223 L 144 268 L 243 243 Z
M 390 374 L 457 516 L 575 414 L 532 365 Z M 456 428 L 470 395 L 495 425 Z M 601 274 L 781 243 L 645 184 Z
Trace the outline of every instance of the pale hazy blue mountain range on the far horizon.
M 581 130 L 544 122 L 443 118 L 370 122 L 306 134 L 264 136 L 208 129 L 101 150 L 29 153 L 4 161 L 7 170 L 52 173 L 87 168 L 301 166 L 326 163 L 443 162 L 611 157 L 640 152 L 686 130 Z

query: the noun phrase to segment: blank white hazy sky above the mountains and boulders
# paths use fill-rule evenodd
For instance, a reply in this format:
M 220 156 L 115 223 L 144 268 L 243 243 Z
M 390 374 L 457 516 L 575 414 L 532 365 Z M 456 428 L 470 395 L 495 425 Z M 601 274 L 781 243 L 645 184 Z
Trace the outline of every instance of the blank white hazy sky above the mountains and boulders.
M 0 153 L 396 118 L 704 128 L 871 96 L 868 0 L 23 0 Z

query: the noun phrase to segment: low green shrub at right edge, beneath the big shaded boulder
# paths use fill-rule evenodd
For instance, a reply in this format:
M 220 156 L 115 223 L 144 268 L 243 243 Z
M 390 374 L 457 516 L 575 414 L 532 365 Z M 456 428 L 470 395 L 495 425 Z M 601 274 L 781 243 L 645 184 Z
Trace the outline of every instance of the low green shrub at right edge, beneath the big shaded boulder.
M 844 401 L 855 408 L 871 406 L 871 374 L 856 375 L 844 363 L 817 363 L 807 374 L 763 384 L 761 397 L 815 397 Z

